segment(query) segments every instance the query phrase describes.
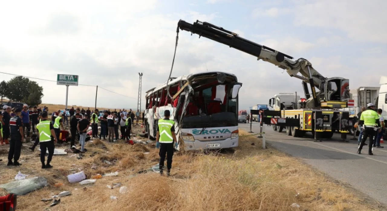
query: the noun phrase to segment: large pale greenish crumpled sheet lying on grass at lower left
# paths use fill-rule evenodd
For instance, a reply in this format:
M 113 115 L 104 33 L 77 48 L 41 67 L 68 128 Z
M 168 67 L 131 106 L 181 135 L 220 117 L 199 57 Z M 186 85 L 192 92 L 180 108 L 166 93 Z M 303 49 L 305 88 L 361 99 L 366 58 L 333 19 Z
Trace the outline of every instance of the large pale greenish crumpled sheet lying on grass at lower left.
M 0 188 L 5 189 L 7 192 L 12 192 L 17 195 L 24 195 L 31 191 L 41 189 L 48 186 L 47 179 L 44 177 L 31 177 L 28 179 L 22 179 L 18 181 L 12 181 L 5 184 L 1 184 Z

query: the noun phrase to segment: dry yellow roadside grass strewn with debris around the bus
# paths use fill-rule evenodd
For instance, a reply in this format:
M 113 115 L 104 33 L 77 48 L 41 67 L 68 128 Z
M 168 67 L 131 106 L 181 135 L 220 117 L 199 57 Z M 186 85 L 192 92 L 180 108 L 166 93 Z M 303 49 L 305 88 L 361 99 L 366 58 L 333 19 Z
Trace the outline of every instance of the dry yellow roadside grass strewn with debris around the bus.
M 141 132 L 141 127 L 135 127 L 135 134 Z M 54 168 L 48 170 L 40 169 L 37 151 L 30 152 L 23 147 L 22 166 L 0 165 L 0 181 L 13 181 L 19 170 L 48 179 L 48 187 L 18 198 L 18 210 L 26 211 L 385 209 L 296 158 L 270 146 L 263 150 L 259 138 L 245 134 L 248 133 L 240 132 L 240 146 L 235 150 L 176 152 L 170 177 L 154 172 L 139 173 L 158 163 L 158 150 L 154 145 L 94 140 L 87 144 L 88 152 L 83 159 L 78 160 L 72 154 L 55 155 L 51 162 Z M 0 146 L 0 158 L 5 160 L 6 153 L 7 148 Z M 92 165 L 97 168 L 92 169 Z M 95 174 L 115 171 L 119 175 L 103 177 L 92 185 L 70 184 L 67 175 L 80 170 L 84 170 L 88 179 Z M 54 187 L 57 182 L 64 185 Z M 128 192 L 122 194 L 119 188 L 106 187 L 116 182 L 127 186 Z M 49 207 L 40 201 L 61 191 L 71 191 L 72 195 L 62 197 L 57 206 Z M 110 196 L 118 199 L 111 200 Z M 293 203 L 300 208 L 291 207 Z

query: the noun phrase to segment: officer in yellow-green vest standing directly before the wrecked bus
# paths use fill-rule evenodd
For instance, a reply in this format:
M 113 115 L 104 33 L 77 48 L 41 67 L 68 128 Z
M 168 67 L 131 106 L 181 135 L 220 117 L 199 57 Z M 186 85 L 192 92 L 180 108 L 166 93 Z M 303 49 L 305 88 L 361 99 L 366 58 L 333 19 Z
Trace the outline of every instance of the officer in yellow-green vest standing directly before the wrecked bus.
M 165 154 L 167 155 L 167 176 L 171 174 L 174 142 L 176 142 L 175 122 L 170 120 L 170 111 L 164 111 L 164 119 L 159 120 L 157 127 L 156 144 L 160 144 L 160 174 L 163 175 Z

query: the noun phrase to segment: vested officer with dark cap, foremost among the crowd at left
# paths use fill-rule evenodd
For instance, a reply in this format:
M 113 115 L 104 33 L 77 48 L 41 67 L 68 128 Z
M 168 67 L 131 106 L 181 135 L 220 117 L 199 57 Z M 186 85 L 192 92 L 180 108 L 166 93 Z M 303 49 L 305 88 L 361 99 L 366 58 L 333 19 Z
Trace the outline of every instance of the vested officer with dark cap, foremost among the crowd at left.
M 52 168 L 52 165 L 50 165 L 50 162 L 52 159 L 52 155 L 54 154 L 55 143 L 57 143 L 57 136 L 55 135 L 54 126 L 50 120 L 47 120 L 47 116 L 48 116 L 47 112 L 43 112 L 42 121 L 39 122 L 38 125 L 36 125 L 36 128 L 38 129 L 38 137 L 39 137 L 40 150 L 41 150 L 40 162 L 42 163 L 42 169 Z M 57 122 L 56 119 L 55 119 L 55 122 Z M 47 164 L 45 164 L 45 155 L 47 150 L 48 150 L 48 157 L 47 157 Z

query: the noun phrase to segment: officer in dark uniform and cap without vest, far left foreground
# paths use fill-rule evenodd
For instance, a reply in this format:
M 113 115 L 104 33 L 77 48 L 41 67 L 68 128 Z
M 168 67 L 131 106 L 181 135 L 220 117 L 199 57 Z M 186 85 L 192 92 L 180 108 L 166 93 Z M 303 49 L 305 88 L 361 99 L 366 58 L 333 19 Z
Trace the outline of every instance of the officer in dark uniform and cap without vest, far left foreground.
M 8 166 L 14 165 L 19 166 L 19 160 L 20 153 L 22 150 L 22 141 L 24 138 L 24 132 L 23 132 L 23 123 L 22 123 L 22 110 L 20 108 L 17 108 L 15 110 L 16 116 L 12 117 L 9 120 L 9 125 L 11 128 L 11 140 L 9 145 L 9 153 L 8 153 Z M 14 159 L 14 162 L 12 162 L 12 159 Z

